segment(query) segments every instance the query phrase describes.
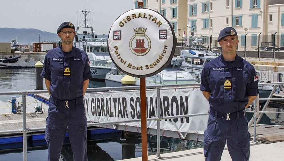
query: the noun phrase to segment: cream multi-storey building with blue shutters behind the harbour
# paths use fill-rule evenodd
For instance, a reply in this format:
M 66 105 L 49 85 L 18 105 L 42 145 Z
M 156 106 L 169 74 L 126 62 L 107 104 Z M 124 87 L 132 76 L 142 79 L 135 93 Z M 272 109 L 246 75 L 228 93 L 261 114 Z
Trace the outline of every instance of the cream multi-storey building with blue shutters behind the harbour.
M 159 10 L 160 0 L 144 0 L 145 8 Z M 137 0 L 134 0 L 135 4 Z M 185 4 L 186 3 L 186 4 Z M 284 2 L 283 0 L 161 0 L 160 13 L 177 28 L 186 31 L 187 38 L 202 36 L 203 43 L 218 46 L 217 37 L 224 27 L 232 26 L 238 32 L 238 50 L 244 50 L 247 29 L 247 50 L 258 46 L 284 46 Z M 186 15 L 186 18 L 184 18 Z M 185 22 L 184 22 L 185 21 Z M 178 37 L 178 35 L 177 35 Z M 181 36 L 182 37 L 182 36 Z

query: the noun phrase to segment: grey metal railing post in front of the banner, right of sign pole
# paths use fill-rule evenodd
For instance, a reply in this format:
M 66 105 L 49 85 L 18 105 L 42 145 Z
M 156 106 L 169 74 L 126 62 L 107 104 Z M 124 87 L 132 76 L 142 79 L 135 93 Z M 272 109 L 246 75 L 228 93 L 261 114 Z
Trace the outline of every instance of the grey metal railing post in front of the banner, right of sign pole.
M 156 152 L 156 158 L 161 158 L 160 153 L 160 92 L 161 92 L 161 86 L 157 86 L 157 152 Z

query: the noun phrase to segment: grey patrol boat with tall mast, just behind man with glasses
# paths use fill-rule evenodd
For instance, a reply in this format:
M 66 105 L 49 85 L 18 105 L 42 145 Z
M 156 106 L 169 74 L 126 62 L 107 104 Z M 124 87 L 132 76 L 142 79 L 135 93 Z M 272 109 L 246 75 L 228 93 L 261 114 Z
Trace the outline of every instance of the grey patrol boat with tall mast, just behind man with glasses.
M 86 24 L 90 11 L 81 11 L 84 15 L 84 25 L 78 26 L 73 46 L 86 51 L 89 57 L 89 65 L 92 78 L 101 79 L 110 72 L 111 58 L 107 49 L 107 39 L 97 38 L 93 27 Z

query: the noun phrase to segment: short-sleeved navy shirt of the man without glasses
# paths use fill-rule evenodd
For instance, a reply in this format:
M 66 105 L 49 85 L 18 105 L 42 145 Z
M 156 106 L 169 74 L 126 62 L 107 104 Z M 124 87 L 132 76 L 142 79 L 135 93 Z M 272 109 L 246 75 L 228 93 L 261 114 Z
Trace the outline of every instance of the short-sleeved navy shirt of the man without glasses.
M 203 68 L 200 90 L 211 93 L 211 109 L 234 113 L 245 108 L 248 96 L 258 95 L 258 76 L 253 65 L 238 55 L 234 61 L 221 55 Z

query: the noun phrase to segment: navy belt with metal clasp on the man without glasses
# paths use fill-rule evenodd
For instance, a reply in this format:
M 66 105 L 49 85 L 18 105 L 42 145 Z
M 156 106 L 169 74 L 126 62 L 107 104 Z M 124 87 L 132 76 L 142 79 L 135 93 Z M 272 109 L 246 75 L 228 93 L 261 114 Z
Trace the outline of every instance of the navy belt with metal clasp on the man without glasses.
M 245 109 L 234 113 L 221 113 L 219 111 L 215 111 L 210 108 L 209 114 L 215 116 L 218 119 L 225 119 L 225 120 L 235 120 L 242 117 L 246 117 Z

